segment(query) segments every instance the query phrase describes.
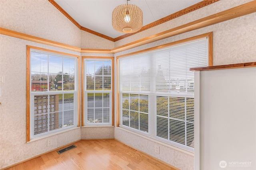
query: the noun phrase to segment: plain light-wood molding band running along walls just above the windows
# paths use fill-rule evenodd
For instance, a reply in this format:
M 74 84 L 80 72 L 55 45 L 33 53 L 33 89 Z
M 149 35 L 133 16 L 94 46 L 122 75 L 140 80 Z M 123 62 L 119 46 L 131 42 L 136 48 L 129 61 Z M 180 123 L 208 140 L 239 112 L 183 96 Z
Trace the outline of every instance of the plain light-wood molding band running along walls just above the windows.
M 145 45 L 148 43 L 152 43 L 154 41 L 158 41 L 161 39 L 165 39 L 165 38 L 179 35 L 182 33 L 186 33 L 189 31 L 193 31 L 193 30 L 196 30 L 199 28 L 207 27 L 210 25 L 214 25 L 216 23 L 220 23 L 223 21 L 238 18 L 240 16 L 252 14 L 254 12 L 256 12 L 256 0 L 253 0 L 246 4 L 242 4 L 240 6 L 236 6 L 234 8 L 230 8 L 228 10 L 213 14 L 211 16 L 207 16 L 205 18 L 201 18 L 199 20 L 192 21 L 190 23 L 186 23 L 184 25 L 180 25 L 178 27 L 151 35 L 149 37 L 145 37 L 143 39 L 139 39 L 137 41 L 116 47 L 114 49 L 81 49 L 81 48 L 74 47 L 71 45 L 66 45 L 66 44 L 55 42 L 55 41 L 42 39 L 40 37 L 35 37 L 35 36 L 27 35 L 24 33 L 19 33 L 19 32 L 1 28 L 1 27 L 0 27 L 0 34 L 8 35 L 11 37 L 16 37 L 16 38 L 20 38 L 20 39 L 25 39 L 25 40 L 33 41 L 33 42 L 37 42 L 37 43 L 42 43 L 42 44 L 46 44 L 46 45 L 51 45 L 51 46 L 59 47 L 59 48 L 63 48 L 63 49 L 68 49 L 68 50 L 72 50 L 72 51 L 77 51 L 80 53 L 118 53 L 121 51 L 132 49 L 134 47 L 138 47 L 140 45 Z

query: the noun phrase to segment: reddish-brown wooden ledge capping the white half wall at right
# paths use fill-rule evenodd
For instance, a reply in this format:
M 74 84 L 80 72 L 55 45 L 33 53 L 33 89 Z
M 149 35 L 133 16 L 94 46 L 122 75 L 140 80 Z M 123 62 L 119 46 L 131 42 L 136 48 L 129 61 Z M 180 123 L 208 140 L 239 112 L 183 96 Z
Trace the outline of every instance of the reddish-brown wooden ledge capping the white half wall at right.
M 244 67 L 256 67 L 256 62 L 190 68 L 190 71 L 221 70 L 221 69 L 244 68 Z

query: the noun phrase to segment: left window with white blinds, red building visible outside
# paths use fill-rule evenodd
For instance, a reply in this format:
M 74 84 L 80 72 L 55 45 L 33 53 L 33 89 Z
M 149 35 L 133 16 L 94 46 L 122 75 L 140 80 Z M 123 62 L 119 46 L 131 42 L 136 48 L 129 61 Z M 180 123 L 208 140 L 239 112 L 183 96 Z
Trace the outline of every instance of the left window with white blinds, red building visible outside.
M 28 46 L 28 139 L 78 127 L 78 56 Z

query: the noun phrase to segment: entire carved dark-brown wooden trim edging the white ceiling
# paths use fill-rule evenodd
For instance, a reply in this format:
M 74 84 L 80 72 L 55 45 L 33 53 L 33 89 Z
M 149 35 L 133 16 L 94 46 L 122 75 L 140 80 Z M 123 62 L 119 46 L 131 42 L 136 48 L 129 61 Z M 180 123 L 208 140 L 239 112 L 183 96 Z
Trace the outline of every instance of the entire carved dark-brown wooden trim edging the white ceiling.
M 192 5 L 192 6 L 188 7 L 188 8 L 185 8 L 183 10 L 175 12 L 174 14 L 166 16 L 166 17 L 164 17 L 164 18 L 162 18 L 160 20 L 157 20 L 157 21 L 154 21 L 152 23 L 149 23 L 148 25 L 143 26 L 140 29 L 140 31 L 137 31 L 135 33 L 124 34 L 124 35 L 121 35 L 121 36 L 116 37 L 116 38 L 108 37 L 107 35 L 103 35 L 103 34 L 98 33 L 96 31 L 92 31 L 91 29 L 88 29 L 86 27 L 82 27 L 76 20 L 74 20 L 74 18 L 72 18 L 65 10 L 63 10 L 63 8 L 61 8 L 54 0 L 48 0 L 48 1 L 52 5 L 54 5 L 62 14 L 64 14 L 64 16 L 66 16 L 70 21 L 72 21 L 72 23 L 74 23 L 79 29 L 81 29 L 83 31 L 86 31 L 88 33 L 92 33 L 94 35 L 97 35 L 97 36 L 102 37 L 104 39 L 108 39 L 110 41 L 116 42 L 116 41 L 119 41 L 119 40 L 124 39 L 126 37 L 129 37 L 131 35 L 134 35 L 136 33 L 139 33 L 141 31 L 145 31 L 146 29 L 150 29 L 152 27 L 155 27 L 156 25 L 159 25 L 161 23 L 173 20 L 174 18 L 178 18 L 179 16 L 182 16 L 184 14 L 188 14 L 189 12 L 192 12 L 194 10 L 198 10 L 199 8 L 202 8 L 204 6 L 210 5 L 210 4 L 212 4 L 214 2 L 217 2 L 219 0 L 204 0 L 204 1 L 198 2 L 197 4 L 194 4 L 194 5 Z

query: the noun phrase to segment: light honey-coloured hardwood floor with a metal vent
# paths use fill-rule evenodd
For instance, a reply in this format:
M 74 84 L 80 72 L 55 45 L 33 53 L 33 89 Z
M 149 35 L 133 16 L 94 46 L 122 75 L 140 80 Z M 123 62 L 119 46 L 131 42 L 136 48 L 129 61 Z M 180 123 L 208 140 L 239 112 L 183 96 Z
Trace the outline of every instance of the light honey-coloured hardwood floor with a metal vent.
M 74 145 L 62 154 L 54 150 L 7 170 L 178 170 L 114 139 Z

